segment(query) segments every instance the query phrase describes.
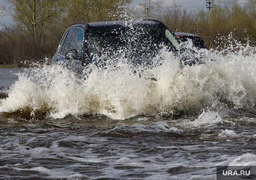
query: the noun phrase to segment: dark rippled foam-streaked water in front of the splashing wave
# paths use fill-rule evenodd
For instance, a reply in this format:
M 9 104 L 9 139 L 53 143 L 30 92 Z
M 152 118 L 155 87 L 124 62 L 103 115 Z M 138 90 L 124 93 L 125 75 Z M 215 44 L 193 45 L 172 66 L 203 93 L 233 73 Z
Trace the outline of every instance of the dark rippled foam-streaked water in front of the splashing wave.
M 29 123 L 1 117 L 0 177 L 215 179 L 216 166 L 255 165 L 255 118 L 197 126 L 202 119 L 95 115 Z

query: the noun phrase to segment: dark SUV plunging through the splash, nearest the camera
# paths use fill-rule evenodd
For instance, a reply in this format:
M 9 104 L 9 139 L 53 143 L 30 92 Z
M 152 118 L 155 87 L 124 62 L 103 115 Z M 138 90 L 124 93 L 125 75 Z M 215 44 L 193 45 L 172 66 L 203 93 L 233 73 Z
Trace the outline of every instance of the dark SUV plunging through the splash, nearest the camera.
M 177 51 L 179 43 L 174 33 L 157 20 L 75 23 L 61 38 L 52 64 L 63 62 L 81 73 L 103 55 L 125 57 L 131 64 L 143 63 L 163 46 Z

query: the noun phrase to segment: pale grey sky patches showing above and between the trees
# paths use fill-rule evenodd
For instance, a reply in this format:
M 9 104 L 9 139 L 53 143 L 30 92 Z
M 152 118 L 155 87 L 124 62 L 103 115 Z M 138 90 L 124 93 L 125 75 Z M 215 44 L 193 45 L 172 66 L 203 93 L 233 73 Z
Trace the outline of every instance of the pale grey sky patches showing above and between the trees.
M 145 2 L 142 0 L 133 0 L 134 5 L 139 4 L 140 2 Z M 146 0 L 147 1 L 147 0 Z M 157 0 L 151 0 L 151 2 L 154 2 Z M 165 2 L 166 7 L 170 7 L 173 4 L 173 0 L 163 0 Z M 182 9 L 192 10 L 192 9 L 202 9 L 207 10 L 205 0 L 175 0 L 177 5 L 180 5 Z M 243 6 L 247 0 L 238 0 L 237 3 L 239 5 Z M 0 5 L 4 4 L 5 0 L 0 0 Z M 0 23 L 4 23 L 6 25 L 9 25 L 13 23 L 12 18 L 8 15 L 4 15 L 4 12 L 0 10 Z

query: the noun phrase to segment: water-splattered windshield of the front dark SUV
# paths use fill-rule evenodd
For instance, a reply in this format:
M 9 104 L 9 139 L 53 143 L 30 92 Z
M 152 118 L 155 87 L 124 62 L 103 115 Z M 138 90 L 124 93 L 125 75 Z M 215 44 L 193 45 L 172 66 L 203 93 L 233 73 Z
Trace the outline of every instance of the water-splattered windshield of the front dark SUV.
M 175 51 L 179 42 L 164 26 L 133 25 L 89 30 L 89 56 L 96 53 L 125 54 L 126 57 L 152 57 L 163 47 Z

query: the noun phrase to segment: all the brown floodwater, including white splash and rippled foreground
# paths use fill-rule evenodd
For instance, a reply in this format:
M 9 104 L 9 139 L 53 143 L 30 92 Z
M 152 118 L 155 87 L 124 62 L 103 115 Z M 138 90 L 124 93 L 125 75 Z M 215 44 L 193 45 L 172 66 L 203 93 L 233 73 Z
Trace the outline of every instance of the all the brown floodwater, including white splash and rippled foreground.
M 141 77 L 126 64 L 86 80 L 0 69 L 0 178 L 208 180 L 216 166 L 256 165 L 253 51 L 205 51 L 183 68 L 163 52 Z

